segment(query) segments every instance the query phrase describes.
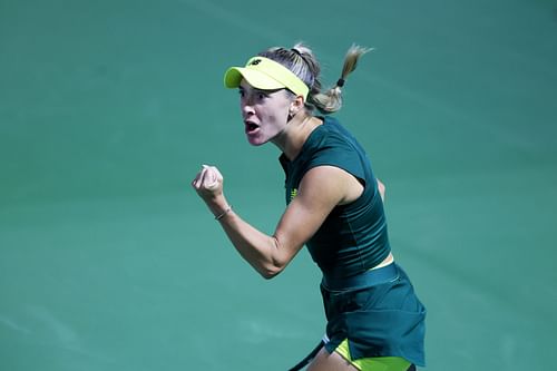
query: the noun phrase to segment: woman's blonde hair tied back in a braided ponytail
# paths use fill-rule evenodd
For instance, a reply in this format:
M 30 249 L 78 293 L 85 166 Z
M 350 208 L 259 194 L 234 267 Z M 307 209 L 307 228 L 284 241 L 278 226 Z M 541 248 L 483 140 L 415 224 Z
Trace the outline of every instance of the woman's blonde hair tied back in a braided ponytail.
M 354 71 L 360 57 L 371 50 L 372 49 L 352 45 L 344 57 L 341 77 L 336 84 L 326 91 L 321 91 L 320 64 L 313 51 L 302 42 L 296 43 L 291 49 L 278 47 L 270 48 L 260 52 L 258 56 L 273 59 L 296 75 L 310 88 L 307 101 L 305 102 L 306 109 L 317 109 L 321 114 L 328 115 L 342 108 L 342 87 L 344 81 L 348 76 Z

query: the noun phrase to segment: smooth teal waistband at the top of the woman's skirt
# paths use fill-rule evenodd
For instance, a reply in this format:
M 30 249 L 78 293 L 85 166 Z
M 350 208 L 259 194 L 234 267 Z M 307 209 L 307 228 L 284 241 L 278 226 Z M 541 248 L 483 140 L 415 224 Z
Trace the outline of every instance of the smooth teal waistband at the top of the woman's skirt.
M 341 279 L 323 276 L 321 284 L 328 290 L 350 290 L 378 285 L 380 283 L 392 282 L 399 277 L 399 270 L 393 262 L 377 270 L 369 270 L 363 273 Z

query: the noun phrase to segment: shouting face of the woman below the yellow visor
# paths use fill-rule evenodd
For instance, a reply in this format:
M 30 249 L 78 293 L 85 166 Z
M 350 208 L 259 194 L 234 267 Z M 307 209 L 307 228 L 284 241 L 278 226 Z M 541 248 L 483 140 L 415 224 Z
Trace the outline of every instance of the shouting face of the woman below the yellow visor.
M 261 146 L 273 140 L 286 128 L 291 95 L 285 89 L 255 89 L 245 80 L 242 80 L 238 89 L 247 141 Z

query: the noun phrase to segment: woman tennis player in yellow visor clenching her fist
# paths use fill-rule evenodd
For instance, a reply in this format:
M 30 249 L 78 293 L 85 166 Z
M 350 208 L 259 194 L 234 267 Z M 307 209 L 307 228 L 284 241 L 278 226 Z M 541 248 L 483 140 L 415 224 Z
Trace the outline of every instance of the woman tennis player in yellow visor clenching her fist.
M 341 88 L 367 50 L 349 49 L 341 78 L 321 91 L 311 49 L 270 48 L 232 67 L 247 141 L 282 152 L 286 208 L 273 235 L 242 219 L 223 193 L 223 176 L 203 166 L 192 185 L 238 253 L 265 279 L 306 245 L 323 273 L 324 346 L 307 370 L 405 371 L 424 365 L 426 309 L 394 262 L 382 186 L 356 139 L 333 117 Z

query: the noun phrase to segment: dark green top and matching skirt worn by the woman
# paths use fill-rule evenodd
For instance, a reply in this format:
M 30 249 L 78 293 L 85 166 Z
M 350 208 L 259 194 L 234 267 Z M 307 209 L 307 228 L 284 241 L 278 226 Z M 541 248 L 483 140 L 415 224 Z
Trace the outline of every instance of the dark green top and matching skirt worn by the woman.
M 323 273 L 325 348 L 333 352 L 348 341 L 353 360 L 401 357 L 423 367 L 426 307 L 398 264 L 371 270 L 387 258 L 391 247 L 370 160 L 335 118 L 321 119 L 323 125 L 312 131 L 294 160 L 280 158 L 286 175 L 286 204 L 296 196 L 304 174 L 316 166 L 342 168 L 364 186 L 356 201 L 336 206 L 306 243 Z

